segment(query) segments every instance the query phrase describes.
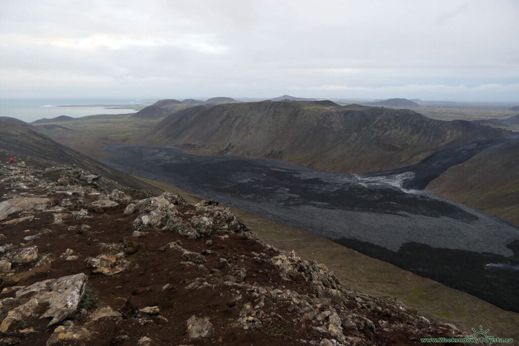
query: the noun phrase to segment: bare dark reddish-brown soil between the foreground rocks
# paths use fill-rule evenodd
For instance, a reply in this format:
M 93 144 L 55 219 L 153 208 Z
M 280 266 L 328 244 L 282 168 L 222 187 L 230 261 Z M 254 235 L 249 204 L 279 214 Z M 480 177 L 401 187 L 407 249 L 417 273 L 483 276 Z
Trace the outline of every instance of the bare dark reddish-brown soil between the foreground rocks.
M 29 285 L 36 281 L 52 278 L 59 278 L 64 275 L 72 275 L 78 272 L 87 272 L 85 259 L 89 256 L 94 257 L 103 253 L 100 243 L 121 243 L 122 239 L 131 234 L 130 216 L 123 216 L 124 206 L 119 209 L 95 214 L 94 218 L 87 220 L 70 220 L 66 225 L 57 227 L 53 225 L 53 218 L 47 213 L 38 215 L 38 220 L 20 223 L 2 229 L 7 236 L 6 242 L 20 243 L 28 233 L 23 230 L 31 229 L 52 229 L 53 232 L 40 239 L 31 242 L 31 245 L 38 246 L 39 252 L 50 254 L 52 258 L 58 258 L 67 248 L 72 248 L 79 258 L 75 261 L 54 260 L 52 261 L 52 271 L 50 273 L 39 273 L 31 278 L 21 280 L 17 285 Z M 67 231 L 70 226 L 89 225 L 92 230 L 85 234 L 71 234 Z M 31 234 L 31 233 L 29 233 Z M 231 235 L 228 239 L 222 240 L 213 238 L 213 244 L 208 246 L 201 240 L 186 239 L 180 234 L 172 232 L 153 232 L 149 236 L 139 239 L 139 251 L 128 255 L 127 259 L 132 262 L 132 269 L 114 276 L 89 275 L 89 290 L 87 299 L 93 300 L 92 306 L 87 310 L 93 311 L 94 307 L 105 304 L 112 307 L 117 306 L 118 300 L 130 297 L 135 307 L 143 308 L 147 306 L 159 306 L 160 315 L 168 319 L 167 324 L 145 324 L 140 325 L 136 320 L 108 321 L 90 331 L 98 332 L 102 338 L 95 338 L 88 342 L 92 345 L 111 344 L 119 335 L 130 336 L 128 344 L 136 342 L 142 336 L 149 336 L 154 340 L 154 344 L 175 344 L 182 343 L 185 338 L 185 323 L 193 314 L 203 314 L 211 317 L 211 322 L 215 325 L 218 333 L 215 339 L 222 340 L 223 344 L 243 344 L 250 345 L 251 342 L 261 340 L 265 345 L 278 345 L 290 341 L 292 338 L 312 339 L 317 332 L 305 331 L 298 326 L 290 323 L 293 319 L 290 313 L 283 316 L 283 320 L 272 321 L 266 329 L 282 328 L 283 334 L 280 336 L 269 336 L 265 331 L 240 331 L 228 328 L 229 321 L 239 317 L 239 309 L 230 308 L 227 303 L 233 299 L 229 295 L 229 290 L 225 287 L 208 287 L 195 290 L 187 290 L 187 283 L 198 278 L 201 272 L 198 270 L 186 270 L 180 262 L 181 253 L 160 251 L 159 248 L 171 241 L 181 240 L 182 246 L 189 251 L 202 252 L 203 250 L 216 251 L 218 256 L 207 256 L 205 264 L 207 268 L 217 268 L 222 271 L 222 275 L 227 274 L 225 267 L 222 267 L 217 260 L 219 257 L 236 258 L 241 266 L 248 268 L 245 282 L 256 282 L 260 285 L 274 285 L 276 287 L 286 287 L 297 289 L 298 292 L 311 291 L 310 285 L 304 280 L 296 282 L 286 282 L 280 278 L 274 266 L 269 263 L 258 264 L 253 260 L 251 252 L 264 252 L 270 255 L 277 255 L 274 250 L 265 250 L 264 246 L 251 239 L 242 237 L 238 234 Z M 209 284 L 215 284 L 220 276 L 206 275 Z M 166 290 L 161 290 L 166 284 L 170 284 Z M 9 295 L 0 295 L 0 299 Z M 249 294 L 244 301 L 254 300 Z M 120 303 L 120 302 L 119 302 Z M 91 312 L 88 311 L 88 312 Z M 87 316 L 76 316 L 75 322 L 81 324 L 87 322 Z M 289 323 L 283 323 L 288 321 Z M 47 340 L 52 329 L 44 335 L 30 335 L 24 340 L 26 344 L 40 344 Z M 310 335 L 313 334 L 313 337 Z M 204 344 L 205 342 L 194 344 Z

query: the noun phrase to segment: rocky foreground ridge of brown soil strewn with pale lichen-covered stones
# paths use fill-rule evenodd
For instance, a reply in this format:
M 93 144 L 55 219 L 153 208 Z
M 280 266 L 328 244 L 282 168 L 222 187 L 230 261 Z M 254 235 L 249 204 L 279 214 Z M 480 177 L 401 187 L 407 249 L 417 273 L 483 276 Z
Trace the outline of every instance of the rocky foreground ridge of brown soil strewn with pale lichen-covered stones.
M 217 201 L 152 197 L 77 167 L 25 162 L 0 167 L 0 345 L 463 336 L 263 243 Z

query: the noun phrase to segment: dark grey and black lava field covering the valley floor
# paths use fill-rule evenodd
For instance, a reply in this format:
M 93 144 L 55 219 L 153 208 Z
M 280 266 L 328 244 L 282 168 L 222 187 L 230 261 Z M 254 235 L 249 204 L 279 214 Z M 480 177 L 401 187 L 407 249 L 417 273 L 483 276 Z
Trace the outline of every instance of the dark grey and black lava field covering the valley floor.
M 519 311 L 519 229 L 464 205 L 378 177 L 174 148 L 114 146 L 109 164 L 166 181 Z M 391 184 L 389 184 L 389 183 Z

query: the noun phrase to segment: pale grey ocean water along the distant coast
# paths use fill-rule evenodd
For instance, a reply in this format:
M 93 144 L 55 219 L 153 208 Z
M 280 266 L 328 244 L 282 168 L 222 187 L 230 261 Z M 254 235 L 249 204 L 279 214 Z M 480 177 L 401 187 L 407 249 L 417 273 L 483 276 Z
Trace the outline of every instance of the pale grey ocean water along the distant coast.
M 0 116 L 32 122 L 60 115 L 78 118 L 97 114 L 128 114 L 136 111 L 109 107 L 151 103 L 149 100 L 136 99 L 0 99 Z M 74 107 L 60 107 L 60 105 L 73 105 Z

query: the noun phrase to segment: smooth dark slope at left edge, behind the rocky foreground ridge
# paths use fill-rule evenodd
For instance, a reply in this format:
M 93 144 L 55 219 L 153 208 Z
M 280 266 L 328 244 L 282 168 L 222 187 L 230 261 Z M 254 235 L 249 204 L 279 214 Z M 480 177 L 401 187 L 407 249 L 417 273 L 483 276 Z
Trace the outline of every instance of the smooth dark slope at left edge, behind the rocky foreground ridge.
M 9 151 L 10 155 L 18 160 L 21 156 L 30 155 L 62 164 L 75 164 L 80 168 L 114 179 L 120 184 L 159 192 L 156 188 L 143 184 L 139 179 L 54 142 L 46 135 L 33 130 L 29 124 L 17 119 L 0 117 L 0 149 Z

